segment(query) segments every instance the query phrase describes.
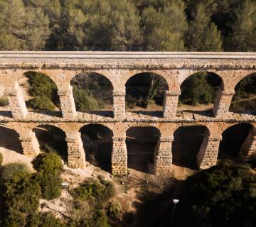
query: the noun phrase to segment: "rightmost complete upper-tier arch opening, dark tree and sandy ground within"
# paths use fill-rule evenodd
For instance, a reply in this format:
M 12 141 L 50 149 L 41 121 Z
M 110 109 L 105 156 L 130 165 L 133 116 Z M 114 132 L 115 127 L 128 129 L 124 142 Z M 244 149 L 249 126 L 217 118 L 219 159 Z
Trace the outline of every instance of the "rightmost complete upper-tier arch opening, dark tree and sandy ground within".
M 216 94 L 222 86 L 223 79 L 213 72 L 196 72 L 181 84 L 178 97 L 178 111 L 200 113 L 213 111 Z

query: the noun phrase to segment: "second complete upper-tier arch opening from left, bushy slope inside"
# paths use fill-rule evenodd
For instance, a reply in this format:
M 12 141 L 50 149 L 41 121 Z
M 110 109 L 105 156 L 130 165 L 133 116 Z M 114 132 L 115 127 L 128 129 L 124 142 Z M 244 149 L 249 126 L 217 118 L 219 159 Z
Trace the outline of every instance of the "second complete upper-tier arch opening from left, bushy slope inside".
M 75 108 L 85 113 L 112 116 L 113 86 L 107 77 L 96 72 L 77 74 L 70 82 L 73 87 Z

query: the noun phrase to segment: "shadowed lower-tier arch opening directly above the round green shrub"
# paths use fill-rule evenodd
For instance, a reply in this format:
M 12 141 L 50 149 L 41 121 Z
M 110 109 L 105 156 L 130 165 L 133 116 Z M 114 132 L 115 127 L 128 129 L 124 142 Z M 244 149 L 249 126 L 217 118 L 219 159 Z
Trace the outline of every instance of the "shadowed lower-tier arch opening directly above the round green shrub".
M 68 163 L 68 145 L 65 141 L 65 132 L 60 128 L 51 125 L 39 125 L 33 128 L 40 149 L 43 152 L 56 152 L 64 163 Z

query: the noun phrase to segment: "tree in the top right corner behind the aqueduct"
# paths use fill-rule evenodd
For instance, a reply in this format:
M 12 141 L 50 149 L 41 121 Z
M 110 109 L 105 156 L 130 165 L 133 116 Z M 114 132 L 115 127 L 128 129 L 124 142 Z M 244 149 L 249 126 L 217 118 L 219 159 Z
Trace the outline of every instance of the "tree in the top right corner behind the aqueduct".
M 231 26 L 225 47 L 230 51 L 256 50 L 256 2 L 245 0 L 235 10 L 235 20 Z

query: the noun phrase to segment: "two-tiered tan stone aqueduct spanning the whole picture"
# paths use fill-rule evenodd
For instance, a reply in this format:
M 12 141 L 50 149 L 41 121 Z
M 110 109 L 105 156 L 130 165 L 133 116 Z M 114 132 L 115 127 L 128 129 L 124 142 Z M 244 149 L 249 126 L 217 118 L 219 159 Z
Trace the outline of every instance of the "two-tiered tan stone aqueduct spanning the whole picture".
M 18 84 L 24 72 L 43 72 L 58 87 L 62 116 L 30 112 Z M 86 114 L 75 110 L 70 80 L 81 72 L 97 72 L 110 80 L 113 86 L 113 117 L 97 113 Z M 125 111 L 125 83 L 134 74 L 154 72 L 166 79 L 162 116 L 132 114 Z M 183 113 L 176 116 L 182 82 L 195 72 L 214 72 L 222 79 L 213 116 Z M 235 86 L 241 79 L 256 72 L 255 53 L 232 52 L 0 52 L 0 84 L 9 99 L 10 116 L 0 116 L 2 126 L 19 134 L 24 155 L 39 153 L 33 128 L 51 125 L 65 132 L 68 145 L 68 165 L 85 166 L 85 152 L 80 128 L 97 123 L 113 132 L 112 174 L 127 173 L 126 131 L 132 126 L 154 126 L 159 129 L 154 154 L 156 173 L 169 172 L 172 165 L 171 145 L 174 131 L 180 126 L 206 126 L 208 133 L 197 155 L 199 168 L 216 164 L 218 147 L 225 129 L 238 123 L 250 123 L 252 131 L 241 148 L 244 158 L 256 154 L 256 116 L 229 111 Z

